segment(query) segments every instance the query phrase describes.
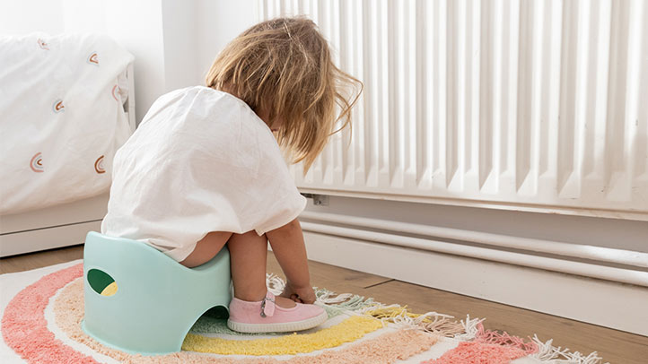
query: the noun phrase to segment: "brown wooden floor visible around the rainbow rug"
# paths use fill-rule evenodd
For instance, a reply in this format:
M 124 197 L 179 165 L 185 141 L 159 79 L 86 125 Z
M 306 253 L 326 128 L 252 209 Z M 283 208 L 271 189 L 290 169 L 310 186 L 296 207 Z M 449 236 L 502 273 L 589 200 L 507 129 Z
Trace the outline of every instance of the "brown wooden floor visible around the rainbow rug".
M 83 257 L 83 246 L 64 247 L 0 259 L 0 273 L 21 272 Z M 540 340 L 554 339 L 554 345 L 589 354 L 598 351 L 610 364 L 648 363 L 648 337 L 627 334 L 597 325 L 514 308 L 483 299 L 473 299 L 444 290 L 400 282 L 378 275 L 351 271 L 333 265 L 310 262 L 311 284 L 337 293 L 355 293 L 384 304 L 406 305 L 416 313 L 436 311 L 465 318 L 486 317 L 486 328 L 504 330 L 522 337 L 538 334 Z M 272 252 L 267 272 L 285 278 Z M 622 308 L 619 308 L 622 309 Z M 648 325 L 648 323 L 646 323 Z

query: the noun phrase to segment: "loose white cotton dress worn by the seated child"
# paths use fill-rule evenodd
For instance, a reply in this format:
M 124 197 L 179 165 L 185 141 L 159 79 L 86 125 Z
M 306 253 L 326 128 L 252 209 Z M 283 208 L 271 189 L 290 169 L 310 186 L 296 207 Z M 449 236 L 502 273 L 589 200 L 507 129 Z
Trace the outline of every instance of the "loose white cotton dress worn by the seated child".
M 305 206 L 263 120 L 229 93 L 188 87 L 156 100 L 115 154 L 101 233 L 181 262 L 210 231 L 261 236 Z

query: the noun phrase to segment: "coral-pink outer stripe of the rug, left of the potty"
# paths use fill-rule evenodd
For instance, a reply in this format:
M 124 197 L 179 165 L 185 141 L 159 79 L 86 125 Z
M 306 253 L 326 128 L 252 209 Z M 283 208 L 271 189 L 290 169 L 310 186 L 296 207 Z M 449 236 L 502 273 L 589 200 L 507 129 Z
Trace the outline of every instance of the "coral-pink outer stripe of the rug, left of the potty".
M 34 364 L 98 363 L 55 338 L 48 330 L 45 308 L 67 283 L 83 276 L 83 263 L 48 274 L 21 290 L 4 308 L 4 342 L 22 359 Z

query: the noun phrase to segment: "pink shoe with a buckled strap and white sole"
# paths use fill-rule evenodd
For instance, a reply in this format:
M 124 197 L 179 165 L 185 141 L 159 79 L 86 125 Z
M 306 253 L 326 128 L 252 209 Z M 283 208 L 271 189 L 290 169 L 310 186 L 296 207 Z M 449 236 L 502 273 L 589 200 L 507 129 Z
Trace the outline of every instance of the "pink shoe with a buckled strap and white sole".
M 267 291 L 260 301 L 232 298 L 227 327 L 239 333 L 284 333 L 310 329 L 328 319 L 324 308 L 295 303 L 293 308 L 275 305 L 275 295 Z

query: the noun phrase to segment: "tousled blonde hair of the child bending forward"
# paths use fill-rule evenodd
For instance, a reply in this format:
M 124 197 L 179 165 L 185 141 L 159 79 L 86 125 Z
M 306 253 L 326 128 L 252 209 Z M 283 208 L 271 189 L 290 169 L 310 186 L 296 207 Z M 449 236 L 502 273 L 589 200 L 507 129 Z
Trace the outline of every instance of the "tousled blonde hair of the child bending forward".
M 327 40 L 304 17 L 277 18 L 245 30 L 216 57 L 206 86 L 265 113 L 268 126 L 282 117 L 277 143 L 293 163 L 304 161 L 304 175 L 330 135 L 346 126 L 351 132 L 351 108 L 363 91 L 362 82 L 333 64 Z M 333 131 L 341 119 L 344 124 Z

